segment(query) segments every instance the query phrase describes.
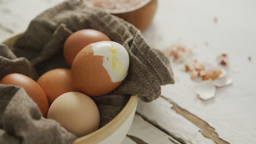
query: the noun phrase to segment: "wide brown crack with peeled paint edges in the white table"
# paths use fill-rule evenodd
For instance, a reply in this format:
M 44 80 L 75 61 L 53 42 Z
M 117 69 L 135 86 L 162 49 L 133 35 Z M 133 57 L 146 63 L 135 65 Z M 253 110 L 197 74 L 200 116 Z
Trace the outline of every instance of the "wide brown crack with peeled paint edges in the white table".
M 203 121 L 201 118 L 195 116 L 193 113 L 190 113 L 189 111 L 182 109 L 179 105 L 174 103 L 170 98 L 165 97 L 164 95 L 161 95 L 162 98 L 167 100 L 170 104 L 173 106 L 171 107 L 172 110 L 179 113 L 179 115 L 182 115 L 184 118 L 188 119 L 191 123 L 195 124 L 197 127 L 199 127 L 201 130 L 199 131 L 203 136 L 207 137 L 208 139 L 213 140 L 217 144 L 230 144 L 229 142 L 221 139 L 219 135 L 216 133 L 215 129 L 211 127 L 210 124 Z

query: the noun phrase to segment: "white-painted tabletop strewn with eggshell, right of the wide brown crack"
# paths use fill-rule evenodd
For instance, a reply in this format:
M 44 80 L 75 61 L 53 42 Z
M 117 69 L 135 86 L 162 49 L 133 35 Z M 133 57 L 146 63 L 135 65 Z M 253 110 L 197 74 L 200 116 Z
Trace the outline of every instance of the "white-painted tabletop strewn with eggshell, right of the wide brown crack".
M 177 66 L 173 68 L 179 81 L 162 87 L 162 94 L 208 122 L 219 137 L 230 143 L 256 143 L 255 8 L 253 0 L 161 1 L 153 25 L 145 32 L 151 45 L 163 48 L 179 41 L 192 48 L 202 62 L 214 63 L 218 55 L 228 53 L 234 81 L 228 87 L 217 88 L 214 99 L 197 98 L 195 82 Z

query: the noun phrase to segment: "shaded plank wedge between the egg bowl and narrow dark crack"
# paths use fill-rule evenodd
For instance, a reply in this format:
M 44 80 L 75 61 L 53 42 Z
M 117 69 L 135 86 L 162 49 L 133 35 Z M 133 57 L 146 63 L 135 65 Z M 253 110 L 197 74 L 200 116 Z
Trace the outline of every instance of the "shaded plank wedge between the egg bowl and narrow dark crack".
M 127 136 L 138 144 L 146 143 L 171 143 L 179 144 L 178 141 L 171 136 L 165 134 L 160 129 L 154 127 L 154 125 L 145 121 L 141 116 L 135 115 L 133 119 L 131 129 Z

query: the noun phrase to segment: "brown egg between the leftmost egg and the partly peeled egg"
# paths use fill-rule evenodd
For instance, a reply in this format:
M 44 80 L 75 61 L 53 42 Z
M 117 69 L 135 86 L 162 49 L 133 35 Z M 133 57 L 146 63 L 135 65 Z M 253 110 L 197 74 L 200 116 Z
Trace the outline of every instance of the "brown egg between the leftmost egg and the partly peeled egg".
M 71 70 L 69 69 L 47 71 L 39 77 L 37 83 L 43 88 L 50 105 L 61 94 L 75 92 L 71 80 Z

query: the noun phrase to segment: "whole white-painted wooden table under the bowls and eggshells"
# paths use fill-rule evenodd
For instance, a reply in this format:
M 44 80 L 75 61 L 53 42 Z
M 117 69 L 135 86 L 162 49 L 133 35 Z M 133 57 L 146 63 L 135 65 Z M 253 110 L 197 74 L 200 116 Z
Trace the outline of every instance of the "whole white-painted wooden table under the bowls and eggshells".
M 33 17 L 62 1 L 0 0 L 0 41 L 25 31 Z M 159 0 L 158 4 L 152 25 L 142 32 L 148 43 L 164 49 L 179 41 L 202 62 L 214 62 L 226 52 L 233 83 L 202 101 L 189 75 L 174 65 L 176 84 L 162 87 L 162 97 L 153 103 L 139 101 L 123 144 L 256 143 L 256 1 Z

